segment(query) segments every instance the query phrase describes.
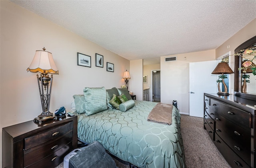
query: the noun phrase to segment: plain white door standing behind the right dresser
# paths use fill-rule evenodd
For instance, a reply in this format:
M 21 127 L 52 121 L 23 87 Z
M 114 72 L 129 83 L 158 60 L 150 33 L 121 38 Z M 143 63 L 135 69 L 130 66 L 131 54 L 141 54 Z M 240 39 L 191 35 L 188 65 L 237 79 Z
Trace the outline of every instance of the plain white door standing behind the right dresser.
M 217 61 L 189 63 L 189 115 L 204 117 L 204 93 L 217 93 Z

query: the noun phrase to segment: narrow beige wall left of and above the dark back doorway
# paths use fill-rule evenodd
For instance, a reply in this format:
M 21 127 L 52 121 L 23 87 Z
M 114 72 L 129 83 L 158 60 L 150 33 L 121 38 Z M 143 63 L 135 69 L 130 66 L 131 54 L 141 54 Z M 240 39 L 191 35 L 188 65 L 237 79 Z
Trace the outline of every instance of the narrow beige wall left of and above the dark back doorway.
M 152 70 L 160 70 L 160 64 L 154 65 L 144 65 L 143 66 L 143 76 L 148 76 L 148 83 L 143 83 L 143 88 L 149 89 L 149 100 L 152 101 Z

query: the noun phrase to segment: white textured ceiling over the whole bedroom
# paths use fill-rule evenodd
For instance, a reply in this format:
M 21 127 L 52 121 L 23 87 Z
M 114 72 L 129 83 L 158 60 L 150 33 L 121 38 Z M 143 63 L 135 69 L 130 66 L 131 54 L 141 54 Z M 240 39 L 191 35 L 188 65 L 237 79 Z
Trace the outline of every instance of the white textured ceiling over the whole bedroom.
M 11 0 L 128 60 L 216 49 L 256 18 L 255 0 Z

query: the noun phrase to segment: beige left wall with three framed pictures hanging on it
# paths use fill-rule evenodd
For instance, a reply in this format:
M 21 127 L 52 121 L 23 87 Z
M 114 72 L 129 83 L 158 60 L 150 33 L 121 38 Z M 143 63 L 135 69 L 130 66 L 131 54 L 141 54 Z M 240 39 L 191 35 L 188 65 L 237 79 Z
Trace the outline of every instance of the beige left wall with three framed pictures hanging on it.
M 0 129 L 34 119 L 42 112 L 36 73 L 26 72 L 35 51 L 51 52 L 59 75 L 54 75 L 50 111 L 70 110 L 72 96 L 84 87 L 106 89 L 124 84 L 130 61 L 9 1 L 0 1 Z M 91 68 L 77 66 L 77 52 L 91 56 Z M 95 66 L 95 53 L 104 56 L 104 68 Z M 106 71 L 106 62 L 114 72 Z M 142 83 L 142 82 L 141 82 Z M 0 167 L 2 167 L 2 131 Z

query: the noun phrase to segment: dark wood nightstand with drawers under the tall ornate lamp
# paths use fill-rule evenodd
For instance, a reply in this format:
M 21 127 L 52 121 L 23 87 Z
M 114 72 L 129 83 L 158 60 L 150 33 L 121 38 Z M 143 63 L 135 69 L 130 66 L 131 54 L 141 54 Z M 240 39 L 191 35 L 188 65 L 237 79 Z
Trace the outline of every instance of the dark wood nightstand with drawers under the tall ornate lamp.
M 53 168 L 77 148 L 77 116 L 2 129 L 3 168 Z

